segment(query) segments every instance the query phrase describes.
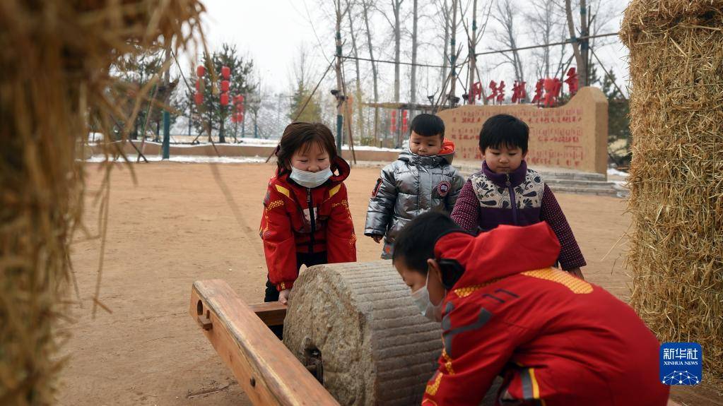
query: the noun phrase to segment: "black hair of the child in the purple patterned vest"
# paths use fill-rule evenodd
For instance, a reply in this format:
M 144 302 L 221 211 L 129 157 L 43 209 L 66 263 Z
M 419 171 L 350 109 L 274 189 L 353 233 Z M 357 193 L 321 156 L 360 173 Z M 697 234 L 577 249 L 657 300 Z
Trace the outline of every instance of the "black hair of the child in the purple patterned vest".
M 484 155 L 487 147 L 519 147 L 523 154 L 527 153 L 530 139 L 530 128 L 521 119 L 509 114 L 497 114 L 487 118 L 479 131 L 479 150 Z

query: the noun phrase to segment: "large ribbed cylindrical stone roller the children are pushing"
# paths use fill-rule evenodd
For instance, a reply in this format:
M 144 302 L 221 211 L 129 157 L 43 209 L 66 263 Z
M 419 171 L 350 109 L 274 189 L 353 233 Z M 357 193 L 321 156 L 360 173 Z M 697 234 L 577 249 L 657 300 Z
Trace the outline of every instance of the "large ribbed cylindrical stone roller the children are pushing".
M 440 334 L 390 262 L 327 264 L 294 283 L 283 343 L 341 405 L 419 405 Z

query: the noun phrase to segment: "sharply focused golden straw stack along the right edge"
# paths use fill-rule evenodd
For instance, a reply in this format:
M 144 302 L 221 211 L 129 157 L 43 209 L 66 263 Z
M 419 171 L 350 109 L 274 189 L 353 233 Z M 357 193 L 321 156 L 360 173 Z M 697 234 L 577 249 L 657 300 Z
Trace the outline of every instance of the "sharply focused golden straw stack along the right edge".
M 723 1 L 633 0 L 630 298 L 662 341 L 723 377 Z

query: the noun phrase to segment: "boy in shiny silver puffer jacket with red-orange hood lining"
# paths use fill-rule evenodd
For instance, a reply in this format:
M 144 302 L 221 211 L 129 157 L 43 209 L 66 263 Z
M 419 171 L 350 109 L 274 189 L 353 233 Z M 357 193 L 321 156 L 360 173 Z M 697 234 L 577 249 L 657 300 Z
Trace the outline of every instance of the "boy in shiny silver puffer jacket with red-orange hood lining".
M 382 259 L 392 259 L 394 239 L 408 221 L 431 210 L 452 212 L 464 186 L 442 118 L 419 114 L 409 131 L 409 150 L 382 169 L 367 208 L 364 235 L 377 243 L 384 238 Z

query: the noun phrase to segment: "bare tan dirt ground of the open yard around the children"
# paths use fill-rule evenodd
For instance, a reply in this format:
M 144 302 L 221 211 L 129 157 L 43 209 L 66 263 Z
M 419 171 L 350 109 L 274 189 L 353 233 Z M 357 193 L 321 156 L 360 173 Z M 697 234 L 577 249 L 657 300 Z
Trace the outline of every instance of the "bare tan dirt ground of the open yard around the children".
M 98 232 L 93 202 L 103 181 L 99 168 L 87 165 L 85 223 L 91 233 Z M 224 197 L 214 168 L 232 201 Z M 137 185 L 123 165 L 111 176 L 99 297 L 112 314 L 98 308 L 93 318 L 90 300 L 100 240 L 78 236 L 73 245 L 82 307 L 73 309 L 77 322 L 63 350 L 69 361 L 59 405 L 249 405 L 189 316 L 189 293 L 194 280 L 221 278 L 244 301 L 262 301 L 266 267 L 257 228 L 273 166 L 150 163 L 134 165 L 134 171 Z M 380 254 L 380 246 L 362 236 L 378 172 L 354 168 L 346 182 L 359 261 Z M 627 299 L 625 202 L 568 194 L 557 199 L 588 262 L 586 278 Z

